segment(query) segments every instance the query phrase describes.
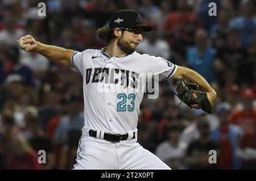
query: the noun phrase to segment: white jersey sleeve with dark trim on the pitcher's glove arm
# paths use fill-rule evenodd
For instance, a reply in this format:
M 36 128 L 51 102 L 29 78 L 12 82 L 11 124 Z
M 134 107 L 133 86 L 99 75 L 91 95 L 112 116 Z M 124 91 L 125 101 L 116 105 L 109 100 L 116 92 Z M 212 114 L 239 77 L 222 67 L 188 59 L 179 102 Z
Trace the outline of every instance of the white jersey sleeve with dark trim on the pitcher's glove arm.
M 159 81 L 165 78 L 171 78 L 177 70 L 177 65 L 162 58 L 149 56 L 147 61 L 147 73 L 154 73 L 159 76 Z

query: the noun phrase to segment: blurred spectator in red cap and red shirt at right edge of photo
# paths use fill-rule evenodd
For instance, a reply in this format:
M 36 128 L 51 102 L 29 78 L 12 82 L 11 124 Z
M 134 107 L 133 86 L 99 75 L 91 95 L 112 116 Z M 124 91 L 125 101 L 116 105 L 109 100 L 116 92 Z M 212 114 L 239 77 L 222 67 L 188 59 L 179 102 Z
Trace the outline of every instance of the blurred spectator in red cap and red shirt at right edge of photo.
M 253 109 L 253 101 L 255 92 L 252 89 L 245 89 L 242 91 L 242 111 L 234 111 L 231 116 L 231 122 L 238 125 L 245 131 L 245 133 L 254 132 L 256 124 L 256 110 Z

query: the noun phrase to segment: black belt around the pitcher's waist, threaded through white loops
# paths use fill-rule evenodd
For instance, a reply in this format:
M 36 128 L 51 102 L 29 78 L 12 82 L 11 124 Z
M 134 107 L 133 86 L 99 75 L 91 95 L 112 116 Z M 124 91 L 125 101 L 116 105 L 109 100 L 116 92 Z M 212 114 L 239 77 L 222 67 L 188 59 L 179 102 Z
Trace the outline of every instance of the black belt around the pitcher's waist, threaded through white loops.
M 92 137 L 97 137 L 97 131 L 93 131 L 92 129 L 90 129 L 89 131 L 89 136 Z M 104 140 L 108 140 L 108 141 L 114 141 L 114 142 L 120 142 L 120 141 L 124 141 L 127 140 L 128 138 L 128 134 L 110 134 L 110 133 L 104 133 Z M 133 138 L 135 138 L 135 132 L 133 132 Z

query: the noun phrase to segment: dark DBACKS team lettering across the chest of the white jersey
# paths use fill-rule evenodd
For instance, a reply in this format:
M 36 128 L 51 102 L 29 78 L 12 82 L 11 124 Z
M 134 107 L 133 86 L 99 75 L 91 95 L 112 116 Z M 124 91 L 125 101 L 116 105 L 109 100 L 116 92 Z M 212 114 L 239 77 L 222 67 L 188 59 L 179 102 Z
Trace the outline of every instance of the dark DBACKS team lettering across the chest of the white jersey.
M 88 83 L 104 82 L 120 84 L 123 87 L 138 86 L 139 73 L 117 68 L 89 68 L 86 69 L 86 85 Z

